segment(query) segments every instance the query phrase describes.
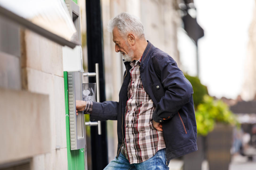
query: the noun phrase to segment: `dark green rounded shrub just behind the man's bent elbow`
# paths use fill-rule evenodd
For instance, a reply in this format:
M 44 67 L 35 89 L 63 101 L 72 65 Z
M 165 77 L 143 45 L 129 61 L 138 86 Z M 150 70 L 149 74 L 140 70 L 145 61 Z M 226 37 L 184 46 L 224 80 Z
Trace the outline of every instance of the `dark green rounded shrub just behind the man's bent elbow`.
M 198 77 L 192 77 L 189 75 L 185 75 L 185 77 L 189 80 L 193 87 L 193 101 L 194 101 L 194 107 L 195 110 L 197 109 L 197 106 L 200 103 L 203 103 L 203 96 L 208 95 L 208 90 L 207 87 L 201 84 L 200 80 Z

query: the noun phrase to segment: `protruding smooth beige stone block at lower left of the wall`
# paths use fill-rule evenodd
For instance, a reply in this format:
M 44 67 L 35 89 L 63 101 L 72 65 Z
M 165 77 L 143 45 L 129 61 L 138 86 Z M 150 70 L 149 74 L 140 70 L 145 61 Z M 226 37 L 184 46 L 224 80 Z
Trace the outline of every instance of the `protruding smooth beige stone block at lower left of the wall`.
M 0 88 L 0 164 L 50 152 L 49 96 Z

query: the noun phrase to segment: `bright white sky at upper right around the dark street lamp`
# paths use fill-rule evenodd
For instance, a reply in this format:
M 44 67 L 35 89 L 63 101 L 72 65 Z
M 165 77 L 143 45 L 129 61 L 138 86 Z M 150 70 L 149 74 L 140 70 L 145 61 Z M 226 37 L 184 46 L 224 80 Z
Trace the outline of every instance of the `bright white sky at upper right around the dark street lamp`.
M 194 0 L 205 36 L 198 41 L 199 78 L 209 94 L 235 99 L 243 85 L 248 29 L 254 0 Z M 195 45 L 180 29 L 178 48 L 183 70 L 196 75 Z

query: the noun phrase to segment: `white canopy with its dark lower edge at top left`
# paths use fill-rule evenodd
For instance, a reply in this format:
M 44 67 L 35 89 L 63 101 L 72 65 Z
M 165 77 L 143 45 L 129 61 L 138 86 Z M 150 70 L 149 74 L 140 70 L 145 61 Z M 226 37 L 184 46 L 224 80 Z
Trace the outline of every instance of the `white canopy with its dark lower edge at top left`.
M 81 44 L 63 0 L 0 0 L 0 16 L 60 45 Z

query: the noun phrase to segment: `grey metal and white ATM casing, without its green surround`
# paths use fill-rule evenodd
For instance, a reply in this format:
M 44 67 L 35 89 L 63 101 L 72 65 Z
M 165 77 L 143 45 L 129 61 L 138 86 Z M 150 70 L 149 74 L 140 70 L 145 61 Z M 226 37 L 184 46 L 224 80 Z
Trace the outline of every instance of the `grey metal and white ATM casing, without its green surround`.
M 72 0 L 65 1 L 67 8 L 69 10 L 70 16 L 73 20 L 75 28 L 77 29 L 77 35 L 74 35 L 75 39 L 78 39 L 81 42 L 80 34 L 80 7 L 74 3 Z M 70 127 L 70 150 L 78 150 L 86 148 L 86 135 L 85 135 L 85 125 L 84 125 L 84 115 L 83 112 L 78 112 L 76 115 L 76 100 L 83 100 L 82 98 L 82 78 L 83 73 L 77 72 L 83 71 L 83 69 L 76 69 L 77 66 L 82 68 L 82 50 L 81 48 L 78 52 L 73 49 L 66 49 L 63 47 L 63 65 L 67 63 L 67 79 L 68 79 L 68 100 L 69 100 L 69 127 Z M 73 60 L 72 60 L 73 58 Z M 74 59 L 77 60 L 74 60 Z M 64 59 L 68 61 L 64 62 Z M 71 64 L 71 62 L 77 62 Z M 70 69 L 72 67 L 72 69 Z M 63 66 L 64 68 L 64 66 Z M 72 72 L 70 72 L 72 70 Z M 73 72 L 76 70 L 75 72 Z

